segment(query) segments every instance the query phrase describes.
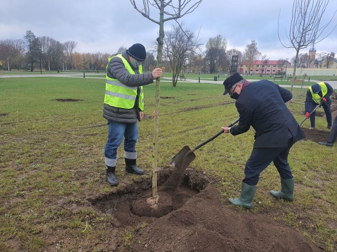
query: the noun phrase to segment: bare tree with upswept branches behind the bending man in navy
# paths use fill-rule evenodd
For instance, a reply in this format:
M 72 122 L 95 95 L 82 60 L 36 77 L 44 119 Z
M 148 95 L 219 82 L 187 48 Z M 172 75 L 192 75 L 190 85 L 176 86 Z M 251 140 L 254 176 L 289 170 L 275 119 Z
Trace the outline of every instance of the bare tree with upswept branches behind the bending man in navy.
M 306 48 L 310 45 L 318 43 L 329 36 L 332 31 L 335 29 L 336 25 L 333 27 L 331 32 L 323 36 L 323 32 L 325 29 L 331 24 L 334 15 L 325 25 L 320 25 L 321 18 L 329 4 L 330 0 L 294 0 L 293 4 L 293 14 L 290 22 L 289 33 L 286 31 L 286 36 L 288 41 L 290 42 L 290 46 L 286 46 L 282 43 L 279 33 L 279 19 L 278 17 L 278 26 L 277 26 L 277 34 L 279 41 L 285 48 L 294 48 L 296 50 L 295 62 L 294 62 L 294 72 L 293 79 L 291 81 L 290 92 L 293 92 L 294 79 L 297 68 L 297 61 L 299 56 L 299 51 L 302 48 Z M 290 102 L 288 102 L 289 106 Z

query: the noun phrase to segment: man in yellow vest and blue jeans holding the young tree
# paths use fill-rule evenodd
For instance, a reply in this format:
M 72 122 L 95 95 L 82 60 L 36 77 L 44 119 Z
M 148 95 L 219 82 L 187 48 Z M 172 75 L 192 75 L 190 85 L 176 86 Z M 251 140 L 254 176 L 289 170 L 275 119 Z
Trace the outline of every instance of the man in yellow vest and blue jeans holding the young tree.
M 135 150 L 138 139 L 138 121 L 144 117 L 143 86 L 162 76 L 156 68 L 152 73 L 143 73 L 142 62 L 146 50 L 142 44 L 134 44 L 122 54 L 108 59 L 106 66 L 103 117 L 108 120 L 108 140 L 104 148 L 106 179 L 118 185 L 115 175 L 117 148 L 124 137 L 125 170 L 144 174 L 136 165 Z

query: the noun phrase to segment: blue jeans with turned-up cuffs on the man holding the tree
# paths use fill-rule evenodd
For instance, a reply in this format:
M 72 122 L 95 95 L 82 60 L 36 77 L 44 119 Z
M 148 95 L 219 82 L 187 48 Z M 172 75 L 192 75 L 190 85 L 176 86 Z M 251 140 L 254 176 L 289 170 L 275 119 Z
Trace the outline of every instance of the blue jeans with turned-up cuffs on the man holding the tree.
M 138 139 L 138 122 L 116 123 L 108 120 L 108 140 L 104 148 L 105 165 L 116 166 L 117 148 L 121 145 L 124 136 L 124 157 L 136 159 L 136 142 Z

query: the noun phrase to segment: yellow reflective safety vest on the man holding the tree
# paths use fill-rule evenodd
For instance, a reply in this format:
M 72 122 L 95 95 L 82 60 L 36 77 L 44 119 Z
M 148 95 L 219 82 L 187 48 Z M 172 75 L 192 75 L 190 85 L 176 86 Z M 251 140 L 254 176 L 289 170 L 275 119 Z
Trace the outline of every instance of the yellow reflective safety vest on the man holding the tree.
M 130 74 L 135 74 L 129 62 L 127 62 L 127 60 L 124 57 L 122 57 L 121 54 L 118 54 L 108 59 L 106 72 L 108 72 L 110 60 L 114 57 L 121 58 L 126 70 L 128 70 Z M 143 73 L 142 65 L 139 66 L 139 73 L 140 74 Z M 137 88 L 138 87 L 129 87 L 127 85 L 124 85 L 119 80 L 110 78 L 108 77 L 108 75 L 106 75 L 104 103 L 117 108 L 132 109 L 134 107 L 134 101 L 137 96 Z M 144 111 L 143 86 L 141 86 L 141 92 L 139 95 L 139 109 Z

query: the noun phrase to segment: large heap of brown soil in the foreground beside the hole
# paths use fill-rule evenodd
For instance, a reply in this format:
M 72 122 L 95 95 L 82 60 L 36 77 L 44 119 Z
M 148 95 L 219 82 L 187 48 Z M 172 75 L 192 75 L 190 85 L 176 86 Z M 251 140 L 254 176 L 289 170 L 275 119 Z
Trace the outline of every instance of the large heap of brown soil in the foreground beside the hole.
M 221 200 L 208 186 L 180 209 L 141 229 L 128 251 L 320 251 L 293 228 L 240 212 Z

